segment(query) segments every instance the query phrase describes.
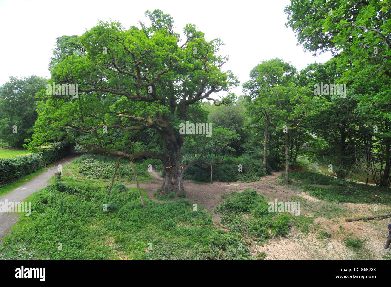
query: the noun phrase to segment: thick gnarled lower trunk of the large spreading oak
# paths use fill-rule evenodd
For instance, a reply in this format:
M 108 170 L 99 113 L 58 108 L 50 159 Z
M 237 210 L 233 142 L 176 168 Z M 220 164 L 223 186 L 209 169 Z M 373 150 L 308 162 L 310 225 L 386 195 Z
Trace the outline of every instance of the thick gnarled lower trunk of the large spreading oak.
M 179 160 L 179 153 L 171 155 L 169 161 L 163 164 L 165 171 L 165 179 L 158 194 L 160 196 L 166 196 L 174 192 L 175 195 L 185 196 L 185 188 L 183 188 L 182 175 L 183 166 Z

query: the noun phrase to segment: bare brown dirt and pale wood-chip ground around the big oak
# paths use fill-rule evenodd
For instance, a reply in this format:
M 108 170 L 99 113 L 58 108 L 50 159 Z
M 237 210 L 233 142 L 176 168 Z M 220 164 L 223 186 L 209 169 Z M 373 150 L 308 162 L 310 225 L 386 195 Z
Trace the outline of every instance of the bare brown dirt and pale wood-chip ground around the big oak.
M 265 252 L 267 260 L 275 259 L 323 259 L 323 260 L 347 260 L 347 259 L 384 259 L 389 254 L 384 244 L 387 239 L 387 224 L 390 218 L 382 220 L 368 220 L 367 222 L 345 222 L 344 218 L 362 217 L 373 214 L 372 204 L 354 203 L 333 203 L 326 200 L 316 199 L 300 189 L 293 186 L 280 185 L 278 178 L 282 171 L 274 172 L 272 175 L 262 177 L 256 182 L 213 182 L 212 184 L 195 184 L 184 182 L 187 199 L 210 210 L 213 220 L 220 222 L 221 214 L 215 214 L 217 205 L 224 200 L 221 196 L 233 191 L 243 192 L 246 189 L 256 189 L 258 194 L 266 199 L 274 201 L 300 201 L 301 214 L 316 217 L 314 226 L 308 233 L 302 233 L 293 227 L 285 237 L 277 237 L 268 240 L 267 244 L 255 245 L 250 248 L 253 255 L 258 252 Z M 151 173 L 155 178 L 153 182 L 140 184 L 141 188 L 147 191 L 150 199 L 159 201 L 154 193 L 161 187 L 163 179 L 156 172 Z M 126 185 L 136 187 L 136 184 Z M 161 202 L 161 201 L 159 201 Z M 380 213 L 391 212 L 391 207 L 378 204 Z M 331 237 L 319 235 L 328 233 Z M 346 238 L 359 238 L 364 240 L 362 251 L 353 252 L 346 247 Z

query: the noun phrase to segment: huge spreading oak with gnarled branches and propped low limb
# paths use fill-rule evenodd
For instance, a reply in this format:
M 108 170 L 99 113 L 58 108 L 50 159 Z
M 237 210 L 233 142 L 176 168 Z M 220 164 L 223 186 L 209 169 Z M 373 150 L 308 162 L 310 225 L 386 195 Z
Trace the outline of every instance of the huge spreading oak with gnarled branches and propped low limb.
M 185 192 L 183 170 L 196 164 L 183 162 L 186 134 L 179 124 L 197 123 L 204 99 L 230 103 L 234 95 L 227 92 L 238 81 L 221 70 L 228 58 L 217 54 L 220 39 L 207 41 L 195 25 L 186 25 L 180 42 L 169 14 L 146 16 L 151 26 L 142 23 L 141 29 L 100 22 L 79 38 L 86 53 L 54 65 L 50 83 L 77 84 L 79 95 L 43 93 L 34 144 L 65 137 L 129 160 L 160 159 L 165 181 L 159 194 L 178 195 Z M 217 103 L 212 95 L 219 92 Z

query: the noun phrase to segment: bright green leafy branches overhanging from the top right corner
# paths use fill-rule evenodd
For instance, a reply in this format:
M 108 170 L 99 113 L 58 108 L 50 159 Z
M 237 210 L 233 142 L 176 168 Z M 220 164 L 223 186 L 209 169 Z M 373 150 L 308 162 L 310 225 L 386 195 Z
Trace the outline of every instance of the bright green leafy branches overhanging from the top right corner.
M 389 2 L 378 0 L 291 0 L 285 7 L 298 42 L 315 54 L 339 53 L 346 79 L 391 76 L 389 11 Z

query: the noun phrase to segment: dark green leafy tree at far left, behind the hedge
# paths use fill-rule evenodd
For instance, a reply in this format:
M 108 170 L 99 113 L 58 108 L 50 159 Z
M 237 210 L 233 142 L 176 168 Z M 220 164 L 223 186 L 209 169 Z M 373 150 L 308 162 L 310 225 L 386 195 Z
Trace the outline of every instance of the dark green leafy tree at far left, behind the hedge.
M 35 95 L 46 83 L 47 79 L 38 76 L 10 77 L 0 87 L 0 141 L 21 148 L 31 138 L 38 117 Z

